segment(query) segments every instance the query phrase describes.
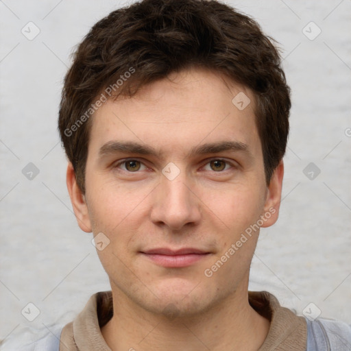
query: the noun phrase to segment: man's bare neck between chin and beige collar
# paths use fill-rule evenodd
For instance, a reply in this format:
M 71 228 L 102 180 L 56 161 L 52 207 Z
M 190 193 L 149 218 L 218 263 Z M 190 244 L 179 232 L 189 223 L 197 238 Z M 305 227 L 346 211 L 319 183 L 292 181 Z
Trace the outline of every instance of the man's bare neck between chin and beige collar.
M 248 302 L 247 287 L 208 311 L 192 316 L 155 315 L 112 289 L 114 315 L 101 328 L 112 351 L 257 351 L 269 321 Z

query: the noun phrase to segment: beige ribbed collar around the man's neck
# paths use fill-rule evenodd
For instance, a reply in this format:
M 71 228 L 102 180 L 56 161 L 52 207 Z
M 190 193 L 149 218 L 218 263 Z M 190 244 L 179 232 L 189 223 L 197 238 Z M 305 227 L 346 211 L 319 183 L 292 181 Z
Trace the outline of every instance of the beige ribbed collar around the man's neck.
M 258 351 L 305 351 L 307 339 L 306 319 L 280 306 L 267 291 L 249 291 L 251 306 L 271 321 L 265 342 Z M 112 317 L 112 293 L 95 293 L 77 315 L 64 326 L 60 351 L 111 351 L 101 335 L 100 327 Z

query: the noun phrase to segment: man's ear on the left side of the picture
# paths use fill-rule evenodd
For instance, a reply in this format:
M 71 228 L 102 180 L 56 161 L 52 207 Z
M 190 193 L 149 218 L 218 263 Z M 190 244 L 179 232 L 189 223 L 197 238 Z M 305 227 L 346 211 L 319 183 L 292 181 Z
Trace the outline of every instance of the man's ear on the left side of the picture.
M 71 203 L 73 206 L 75 218 L 77 219 L 80 229 L 87 233 L 91 232 L 92 230 L 90 218 L 88 215 L 88 207 L 86 206 L 84 194 L 80 190 L 80 187 L 77 185 L 75 172 L 71 162 L 69 162 L 69 165 L 67 166 L 66 184 L 69 191 L 69 197 L 71 197 Z

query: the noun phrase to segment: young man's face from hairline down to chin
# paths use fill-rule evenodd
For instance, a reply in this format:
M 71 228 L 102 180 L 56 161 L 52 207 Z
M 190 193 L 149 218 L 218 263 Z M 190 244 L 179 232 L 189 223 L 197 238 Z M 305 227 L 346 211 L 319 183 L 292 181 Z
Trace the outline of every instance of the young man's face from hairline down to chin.
M 110 240 L 98 254 L 114 293 L 182 315 L 247 290 L 258 230 L 242 234 L 278 214 L 281 179 L 267 187 L 250 90 L 199 69 L 171 78 L 97 110 L 80 217 Z

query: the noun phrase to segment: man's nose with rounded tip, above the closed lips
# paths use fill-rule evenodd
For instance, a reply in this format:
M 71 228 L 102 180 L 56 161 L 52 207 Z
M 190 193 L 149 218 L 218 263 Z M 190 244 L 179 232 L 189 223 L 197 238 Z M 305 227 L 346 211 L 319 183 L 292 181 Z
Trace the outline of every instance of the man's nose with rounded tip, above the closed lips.
M 186 184 L 185 176 L 169 180 L 162 175 L 154 191 L 151 219 L 158 226 L 168 226 L 172 230 L 194 226 L 201 218 L 200 203 Z

